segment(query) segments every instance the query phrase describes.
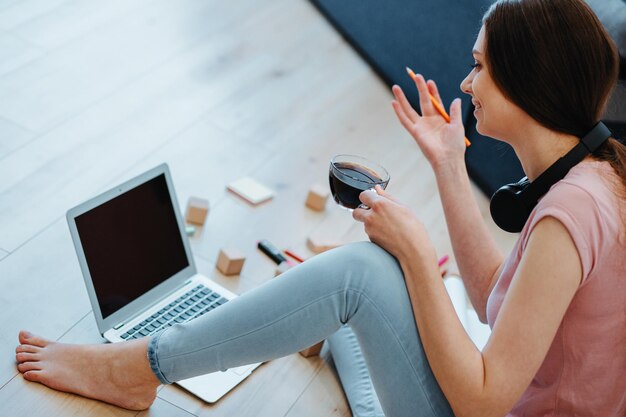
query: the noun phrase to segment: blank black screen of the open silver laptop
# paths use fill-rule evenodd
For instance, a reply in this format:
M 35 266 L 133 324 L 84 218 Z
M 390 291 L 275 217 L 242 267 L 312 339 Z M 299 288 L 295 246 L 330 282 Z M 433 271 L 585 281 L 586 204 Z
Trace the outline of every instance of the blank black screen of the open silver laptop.
M 76 217 L 106 318 L 189 266 L 165 175 Z

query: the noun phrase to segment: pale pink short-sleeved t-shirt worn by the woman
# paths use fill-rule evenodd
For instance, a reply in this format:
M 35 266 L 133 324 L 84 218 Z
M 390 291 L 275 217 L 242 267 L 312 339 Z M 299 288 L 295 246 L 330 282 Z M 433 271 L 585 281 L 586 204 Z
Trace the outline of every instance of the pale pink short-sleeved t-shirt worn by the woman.
M 626 207 L 619 210 L 623 200 L 607 178 L 620 181 L 608 162 L 585 160 L 552 186 L 489 296 L 493 328 L 530 233 L 542 218 L 558 219 L 578 250 L 583 280 L 511 416 L 626 416 Z

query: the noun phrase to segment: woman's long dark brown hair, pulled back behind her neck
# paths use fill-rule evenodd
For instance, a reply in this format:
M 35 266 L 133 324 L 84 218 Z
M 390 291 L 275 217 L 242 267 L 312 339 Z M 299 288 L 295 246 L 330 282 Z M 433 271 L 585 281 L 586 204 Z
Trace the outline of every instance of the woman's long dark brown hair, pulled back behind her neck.
M 499 0 L 483 17 L 487 65 L 503 94 L 543 126 L 582 137 L 617 84 L 619 55 L 582 0 Z M 608 161 L 626 199 L 626 146 L 610 138 Z

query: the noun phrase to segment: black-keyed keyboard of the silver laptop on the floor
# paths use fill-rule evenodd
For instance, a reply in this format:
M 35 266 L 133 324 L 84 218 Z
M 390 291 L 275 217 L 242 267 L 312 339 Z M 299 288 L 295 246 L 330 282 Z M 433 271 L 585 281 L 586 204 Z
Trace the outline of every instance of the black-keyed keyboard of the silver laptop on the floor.
M 205 287 L 198 285 L 178 297 L 120 337 L 125 340 L 138 339 L 155 334 L 176 323 L 183 323 L 221 306 L 228 300 Z

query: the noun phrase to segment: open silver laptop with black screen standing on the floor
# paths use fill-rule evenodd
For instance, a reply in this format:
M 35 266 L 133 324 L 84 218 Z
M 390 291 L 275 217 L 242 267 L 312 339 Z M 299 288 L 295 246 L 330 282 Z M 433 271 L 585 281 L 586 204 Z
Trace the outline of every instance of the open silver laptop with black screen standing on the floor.
M 167 164 L 67 212 L 100 334 L 136 339 L 194 320 L 237 295 L 198 274 Z M 177 383 L 214 403 L 261 363 Z

